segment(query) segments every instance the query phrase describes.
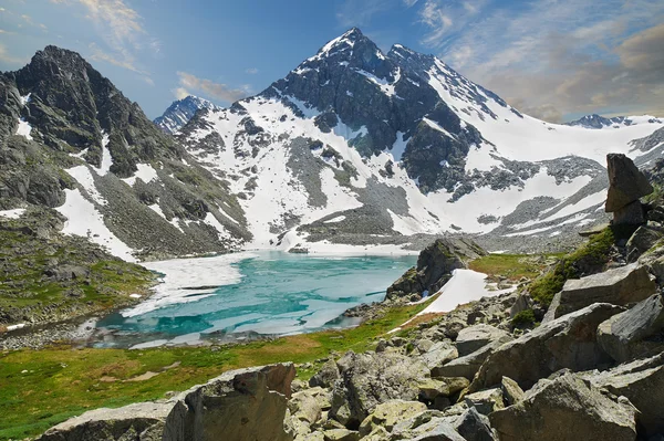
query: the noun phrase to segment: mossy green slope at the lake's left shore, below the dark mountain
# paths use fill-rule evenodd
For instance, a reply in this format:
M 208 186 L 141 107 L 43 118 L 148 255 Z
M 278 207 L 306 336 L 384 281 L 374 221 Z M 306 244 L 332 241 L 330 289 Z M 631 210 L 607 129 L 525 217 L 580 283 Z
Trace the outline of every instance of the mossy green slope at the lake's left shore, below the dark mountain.
M 87 276 L 48 275 L 50 267 L 64 264 L 85 267 Z M 154 280 L 144 267 L 115 260 L 82 238 L 46 240 L 0 230 L 0 312 L 22 309 L 41 322 L 103 312 L 134 303 L 129 294 L 147 294 Z M 12 313 L 4 319 L 17 321 L 20 315 Z

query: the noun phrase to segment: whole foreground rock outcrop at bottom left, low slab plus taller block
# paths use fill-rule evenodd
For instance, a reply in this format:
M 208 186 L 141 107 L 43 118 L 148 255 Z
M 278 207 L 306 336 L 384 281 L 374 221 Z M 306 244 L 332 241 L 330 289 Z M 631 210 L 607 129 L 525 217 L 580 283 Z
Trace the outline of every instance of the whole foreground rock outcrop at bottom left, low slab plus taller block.
M 49 429 L 40 441 L 291 441 L 284 426 L 292 364 L 231 370 L 162 402 L 97 409 Z

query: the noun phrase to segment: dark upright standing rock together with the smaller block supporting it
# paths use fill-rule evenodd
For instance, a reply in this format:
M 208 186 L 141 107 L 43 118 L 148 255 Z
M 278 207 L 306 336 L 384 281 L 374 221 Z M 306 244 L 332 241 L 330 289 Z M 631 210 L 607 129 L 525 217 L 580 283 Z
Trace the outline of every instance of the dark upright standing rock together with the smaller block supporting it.
M 605 211 L 613 213 L 613 224 L 644 223 L 644 210 L 639 198 L 653 192 L 645 175 L 625 155 L 606 155 L 609 195 Z

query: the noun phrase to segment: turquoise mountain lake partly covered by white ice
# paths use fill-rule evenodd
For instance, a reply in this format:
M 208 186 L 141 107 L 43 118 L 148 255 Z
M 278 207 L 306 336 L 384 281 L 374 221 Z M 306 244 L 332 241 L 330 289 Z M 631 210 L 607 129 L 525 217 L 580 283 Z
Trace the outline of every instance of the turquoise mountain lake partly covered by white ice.
M 352 326 L 341 315 L 380 302 L 414 255 L 325 256 L 251 252 L 147 265 L 162 293 L 97 322 L 100 347 L 193 344 Z M 200 283 L 199 283 L 200 282 Z

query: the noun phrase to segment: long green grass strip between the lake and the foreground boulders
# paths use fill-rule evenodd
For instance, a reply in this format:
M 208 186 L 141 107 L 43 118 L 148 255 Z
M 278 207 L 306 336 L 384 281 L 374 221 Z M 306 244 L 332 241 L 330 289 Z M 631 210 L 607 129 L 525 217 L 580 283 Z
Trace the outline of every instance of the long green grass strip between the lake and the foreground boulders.
M 205 348 L 20 350 L 0 356 L 0 440 L 23 439 L 100 407 L 120 407 L 163 398 L 229 369 L 279 361 L 313 363 L 298 372 L 308 379 L 314 361 L 331 351 L 363 351 L 426 304 L 393 308 L 359 327 L 302 334 L 243 346 Z M 179 361 L 179 366 L 165 369 Z M 126 381 L 147 371 L 144 381 Z

